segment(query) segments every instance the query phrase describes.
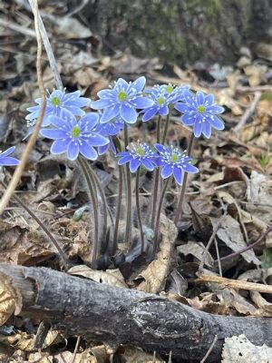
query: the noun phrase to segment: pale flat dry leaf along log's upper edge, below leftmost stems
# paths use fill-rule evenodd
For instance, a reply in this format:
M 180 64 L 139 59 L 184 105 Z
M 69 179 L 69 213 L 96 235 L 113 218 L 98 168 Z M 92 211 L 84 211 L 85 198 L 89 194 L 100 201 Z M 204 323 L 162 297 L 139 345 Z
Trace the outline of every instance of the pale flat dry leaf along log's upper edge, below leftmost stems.
M 85 265 L 74 266 L 68 270 L 71 275 L 83 276 L 86 279 L 90 279 L 100 283 L 106 283 L 108 285 L 116 286 L 118 288 L 127 288 L 120 270 L 92 270 Z

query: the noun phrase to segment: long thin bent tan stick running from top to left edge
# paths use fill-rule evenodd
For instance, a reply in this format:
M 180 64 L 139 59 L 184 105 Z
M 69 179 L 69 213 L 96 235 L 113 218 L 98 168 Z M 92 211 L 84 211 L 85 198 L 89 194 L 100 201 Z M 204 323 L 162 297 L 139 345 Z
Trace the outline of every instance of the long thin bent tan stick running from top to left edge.
M 42 104 L 41 104 L 41 112 L 37 118 L 37 122 L 34 127 L 34 132 L 29 138 L 29 141 L 26 144 L 26 148 L 24 150 L 24 153 L 22 155 L 22 159 L 20 164 L 16 167 L 15 173 L 12 177 L 11 182 L 9 183 L 7 189 L 5 190 L 5 193 L 0 201 L 0 215 L 5 210 L 5 207 L 7 206 L 8 202 L 10 201 L 13 193 L 15 192 L 15 189 L 17 187 L 18 182 L 21 179 L 22 173 L 24 172 L 24 167 L 28 159 L 29 153 L 32 151 L 34 147 L 34 143 L 36 142 L 36 139 L 38 137 L 41 125 L 43 123 L 44 119 L 44 111 L 46 107 L 46 95 L 44 91 L 44 82 L 43 82 L 43 73 L 42 73 L 42 39 L 41 34 L 39 31 L 39 23 L 38 23 L 38 0 L 34 0 L 34 25 L 35 25 L 35 32 L 36 32 L 36 38 L 37 38 L 37 62 L 36 62 L 36 69 L 37 69 L 37 80 L 39 84 L 40 93 L 42 96 Z

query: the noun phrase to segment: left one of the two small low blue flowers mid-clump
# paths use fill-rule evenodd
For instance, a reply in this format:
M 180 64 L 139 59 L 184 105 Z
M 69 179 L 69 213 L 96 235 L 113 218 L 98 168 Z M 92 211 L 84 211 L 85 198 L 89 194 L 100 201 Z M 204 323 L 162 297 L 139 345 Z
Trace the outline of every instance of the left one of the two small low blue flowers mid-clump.
M 148 171 L 153 171 L 157 166 L 155 160 L 158 157 L 156 152 L 153 152 L 146 143 L 131 143 L 128 146 L 128 152 L 119 152 L 116 156 L 121 157 L 118 165 L 123 165 L 130 162 L 131 172 L 136 172 L 140 165 L 143 165 Z

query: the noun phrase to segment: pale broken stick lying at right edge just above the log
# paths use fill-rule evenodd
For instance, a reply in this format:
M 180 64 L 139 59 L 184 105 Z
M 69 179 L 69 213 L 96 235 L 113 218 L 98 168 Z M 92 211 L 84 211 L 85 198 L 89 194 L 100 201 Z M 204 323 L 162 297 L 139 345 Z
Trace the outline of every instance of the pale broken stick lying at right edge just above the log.
M 205 275 L 205 274 L 199 275 L 199 278 L 194 280 L 194 282 L 195 283 L 212 282 L 212 283 L 218 283 L 220 285 L 219 287 L 222 288 L 246 289 L 248 291 L 258 291 L 267 294 L 272 294 L 271 285 L 263 285 L 257 282 L 248 282 L 241 280 L 231 280 L 214 275 Z

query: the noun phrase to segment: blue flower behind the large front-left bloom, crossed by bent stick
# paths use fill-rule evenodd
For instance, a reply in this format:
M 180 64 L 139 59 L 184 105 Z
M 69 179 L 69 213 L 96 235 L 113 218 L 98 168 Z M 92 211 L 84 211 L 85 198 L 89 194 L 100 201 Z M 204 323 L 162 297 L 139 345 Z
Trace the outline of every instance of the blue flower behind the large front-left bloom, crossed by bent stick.
M 80 91 L 75 91 L 73 93 L 64 93 L 61 90 L 54 90 L 48 97 L 46 97 L 46 108 L 44 113 L 43 127 L 50 125 L 49 116 L 54 114 L 60 116 L 61 110 L 68 110 L 75 116 L 83 116 L 84 111 L 81 109 L 90 103 L 89 98 L 81 97 Z M 37 98 L 35 103 L 36 106 L 29 107 L 27 111 L 30 113 L 25 117 L 25 120 L 33 125 L 34 120 L 36 120 L 40 114 L 42 106 L 42 98 Z

